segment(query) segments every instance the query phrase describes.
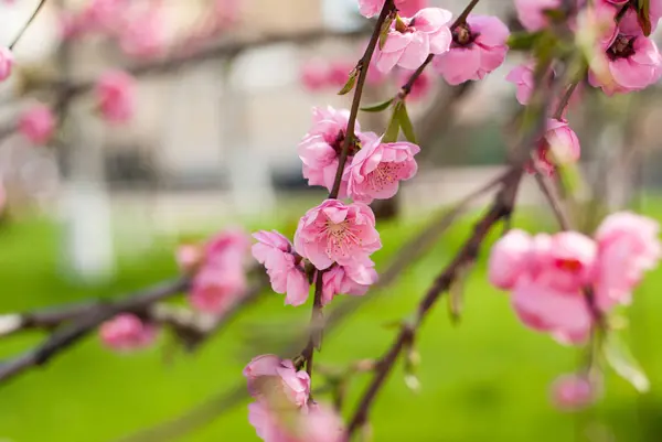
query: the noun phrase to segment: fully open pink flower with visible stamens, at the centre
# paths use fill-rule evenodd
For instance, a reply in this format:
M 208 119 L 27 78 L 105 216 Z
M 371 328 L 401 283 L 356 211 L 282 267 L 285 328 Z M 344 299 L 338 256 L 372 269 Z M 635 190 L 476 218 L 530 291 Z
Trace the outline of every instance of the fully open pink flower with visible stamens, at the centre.
M 382 248 L 382 242 L 369 206 L 327 200 L 299 220 L 295 248 L 318 270 L 324 270 L 333 262 L 370 266 L 369 256 Z

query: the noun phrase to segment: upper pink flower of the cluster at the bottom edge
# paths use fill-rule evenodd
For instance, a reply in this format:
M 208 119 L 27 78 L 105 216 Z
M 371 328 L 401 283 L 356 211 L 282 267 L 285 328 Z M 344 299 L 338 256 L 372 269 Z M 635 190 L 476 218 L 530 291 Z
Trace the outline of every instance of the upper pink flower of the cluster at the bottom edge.
M 291 403 L 306 408 L 310 395 L 310 377 L 303 370 L 297 371 L 292 362 L 276 355 L 261 355 L 253 358 L 244 368 L 248 391 L 256 399 Z

